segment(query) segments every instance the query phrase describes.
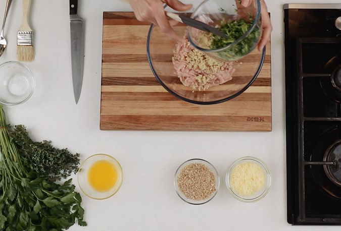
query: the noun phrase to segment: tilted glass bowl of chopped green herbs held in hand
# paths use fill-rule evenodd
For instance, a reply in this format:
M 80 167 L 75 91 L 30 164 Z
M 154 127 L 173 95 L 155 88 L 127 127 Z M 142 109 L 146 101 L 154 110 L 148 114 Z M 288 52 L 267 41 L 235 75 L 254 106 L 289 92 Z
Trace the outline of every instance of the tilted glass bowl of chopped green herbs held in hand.
M 191 18 L 218 28 L 228 38 L 188 27 L 188 40 L 197 49 L 221 61 L 240 60 L 251 53 L 262 34 L 261 6 L 251 0 L 243 7 L 235 0 L 205 0 Z

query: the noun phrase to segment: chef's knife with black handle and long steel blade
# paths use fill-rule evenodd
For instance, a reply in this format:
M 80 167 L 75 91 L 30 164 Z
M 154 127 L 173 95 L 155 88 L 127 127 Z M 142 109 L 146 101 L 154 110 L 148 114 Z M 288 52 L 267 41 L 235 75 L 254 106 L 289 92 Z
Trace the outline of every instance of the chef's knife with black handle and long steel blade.
M 78 0 L 70 0 L 71 67 L 72 84 L 76 104 L 78 103 L 83 82 L 83 20 L 77 15 Z

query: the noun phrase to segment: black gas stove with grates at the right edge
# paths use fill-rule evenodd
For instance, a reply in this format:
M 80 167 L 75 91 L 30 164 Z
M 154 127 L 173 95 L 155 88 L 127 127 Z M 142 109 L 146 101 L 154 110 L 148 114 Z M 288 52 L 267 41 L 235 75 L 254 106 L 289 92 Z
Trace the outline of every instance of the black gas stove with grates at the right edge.
M 341 4 L 285 4 L 287 221 L 341 225 Z

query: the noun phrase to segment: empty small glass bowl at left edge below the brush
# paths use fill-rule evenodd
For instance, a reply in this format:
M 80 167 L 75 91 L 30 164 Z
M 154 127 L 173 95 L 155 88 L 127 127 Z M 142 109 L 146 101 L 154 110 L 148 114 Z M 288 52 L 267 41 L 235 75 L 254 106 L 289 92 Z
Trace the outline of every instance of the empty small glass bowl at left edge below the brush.
M 9 61 L 0 64 L 0 103 L 18 105 L 33 94 L 35 80 L 23 63 Z

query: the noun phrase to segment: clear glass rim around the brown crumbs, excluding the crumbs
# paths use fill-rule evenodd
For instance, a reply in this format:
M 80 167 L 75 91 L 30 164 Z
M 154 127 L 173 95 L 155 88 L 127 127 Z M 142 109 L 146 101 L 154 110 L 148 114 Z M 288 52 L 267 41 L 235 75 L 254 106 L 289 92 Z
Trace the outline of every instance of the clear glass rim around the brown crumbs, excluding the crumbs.
M 187 198 L 179 189 L 178 186 L 178 177 L 180 175 L 181 170 L 187 166 L 188 164 L 191 163 L 201 163 L 204 164 L 208 169 L 210 169 L 214 175 L 214 179 L 215 179 L 215 192 L 212 193 L 208 198 L 204 199 L 204 200 L 192 200 Z M 213 197 L 217 194 L 218 189 L 219 189 L 219 185 L 220 185 L 220 181 L 219 181 L 219 175 L 218 175 L 218 171 L 216 170 L 216 168 L 208 161 L 204 160 L 204 159 L 189 159 L 185 162 L 183 162 L 178 169 L 176 169 L 175 172 L 175 176 L 174 176 L 174 187 L 175 187 L 175 191 L 178 194 L 178 196 L 185 202 L 187 202 L 188 204 L 192 204 L 192 205 L 201 205 L 201 204 L 205 204 L 207 202 L 209 202 L 210 200 L 213 199 Z

